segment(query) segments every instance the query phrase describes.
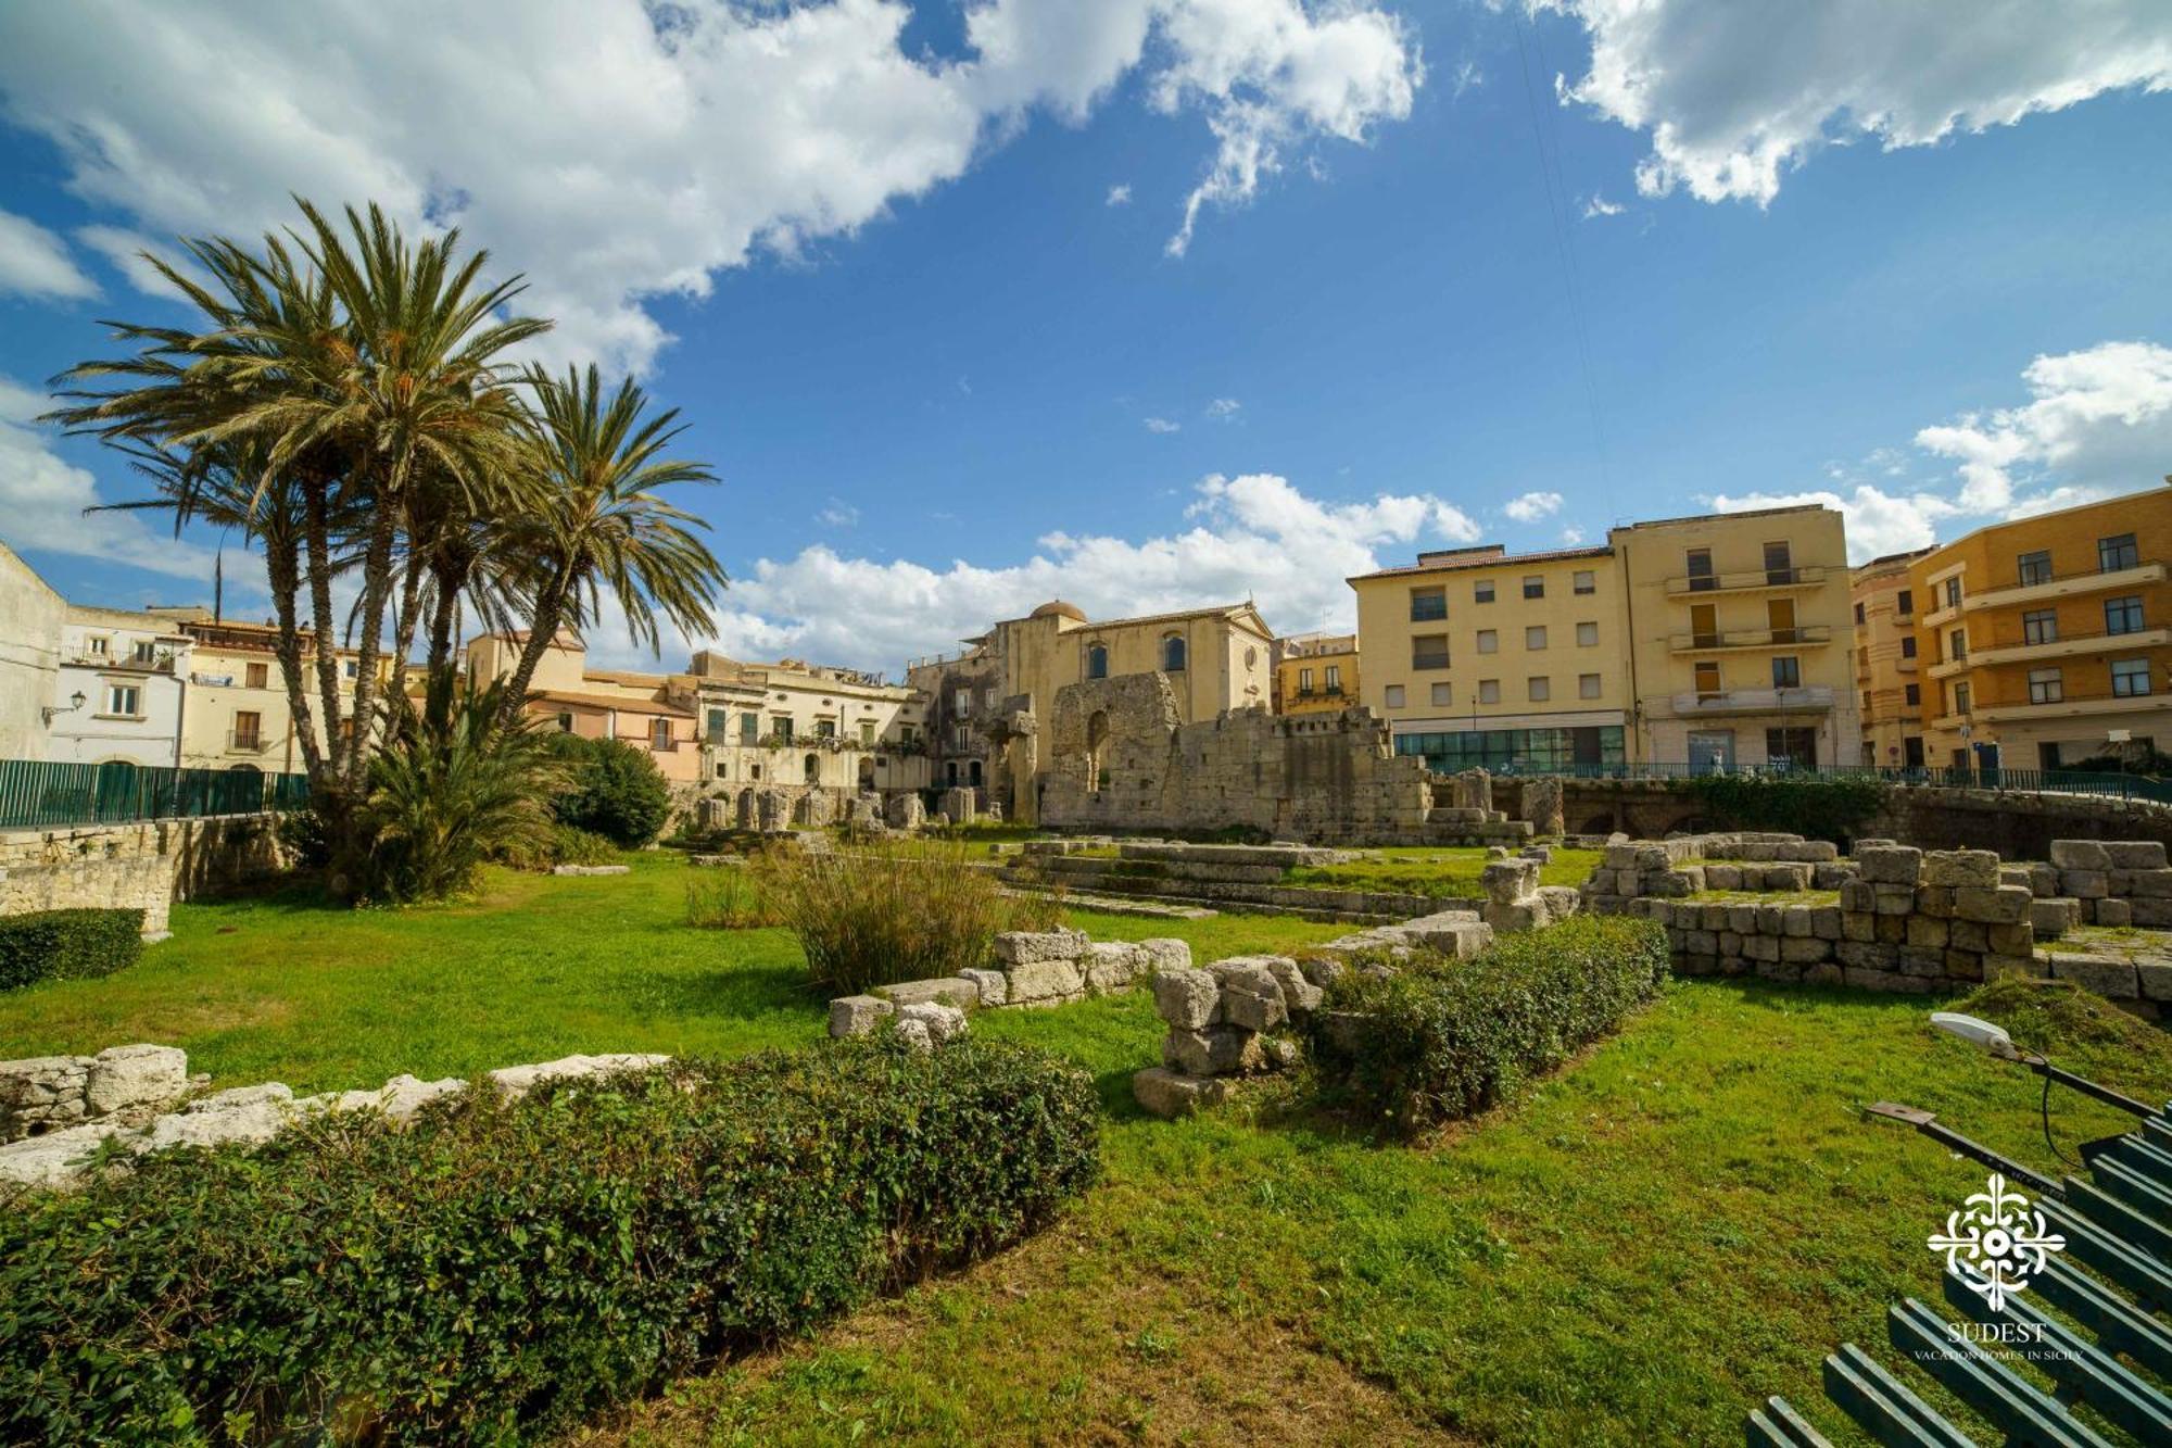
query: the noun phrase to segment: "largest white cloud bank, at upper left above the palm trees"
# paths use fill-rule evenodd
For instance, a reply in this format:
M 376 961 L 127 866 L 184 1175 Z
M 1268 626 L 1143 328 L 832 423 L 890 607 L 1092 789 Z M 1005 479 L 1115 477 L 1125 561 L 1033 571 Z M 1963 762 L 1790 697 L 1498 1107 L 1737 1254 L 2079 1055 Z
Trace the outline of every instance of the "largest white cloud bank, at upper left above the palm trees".
M 139 285 L 159 283 L 130 233 L 254 235 L 293 222 L 291 191 L 378 200 L 526 272 L 523 304 L 560 322 L 547 350 L 647 367 L 669 341 L 647 298 L 851 235 L 1132 72 L 1214 135 L 1190 237 L 1281 150 L 1410 113 L 1416 43 L 1371 4 L 977 0 L 962 59 L 908 52 L 904 0 L 13 4 L 0 117 L 59 148 L 109 213 L 85 241 Z

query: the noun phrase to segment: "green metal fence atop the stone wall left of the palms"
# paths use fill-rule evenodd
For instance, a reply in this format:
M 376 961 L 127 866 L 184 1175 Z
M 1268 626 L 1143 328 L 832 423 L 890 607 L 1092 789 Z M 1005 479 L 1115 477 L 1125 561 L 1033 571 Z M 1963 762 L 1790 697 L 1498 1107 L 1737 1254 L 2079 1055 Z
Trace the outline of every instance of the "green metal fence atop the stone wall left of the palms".
M 0 759 L 0 831 L 250 815 L 308 802 L 308 776 Z

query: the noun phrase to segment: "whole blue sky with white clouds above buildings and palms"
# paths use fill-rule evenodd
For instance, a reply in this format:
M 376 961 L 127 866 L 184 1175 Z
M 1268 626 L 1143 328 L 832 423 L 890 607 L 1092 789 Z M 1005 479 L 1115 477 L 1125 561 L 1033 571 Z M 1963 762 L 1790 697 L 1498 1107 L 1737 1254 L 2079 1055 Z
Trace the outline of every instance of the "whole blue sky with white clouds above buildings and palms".
M 74 598 L 206 594 L 211 539 L 83 520 L 126 470 L 26 420 L 96 317 L 182 317 L 132 239 L 289 189 L 460 213 L 569 317 L 554 357 L 684 411 L 747 657 L 895 672 L 1051 594 L 1336 626 L 1344 574 L 1444 541 L 1827 494 L 1870 557 L 2172 472 L 2168 11 L 1247 4 L 695 4 L 678 54 L 534 4 L 413 76 L 376 7 L 178 7 L 239 61 L 9 11 L 0 539 Z M 159 91 L 219 67 L 239 98 Z

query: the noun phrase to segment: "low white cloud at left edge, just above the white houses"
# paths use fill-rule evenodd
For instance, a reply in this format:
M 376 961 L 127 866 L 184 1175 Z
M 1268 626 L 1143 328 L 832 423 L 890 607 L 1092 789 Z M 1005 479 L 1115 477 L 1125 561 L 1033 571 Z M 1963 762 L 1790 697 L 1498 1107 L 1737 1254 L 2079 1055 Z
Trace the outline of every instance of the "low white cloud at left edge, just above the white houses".
M 35 417 L 46 394 L 0 376 L 0 537 L 11 548 L 43 548 L 85 559 L 148 567 L 176 578 L 211 578 L 211 550 L 172 537 L 165 513 L 93 513 L 98 480 L 50 448 Z

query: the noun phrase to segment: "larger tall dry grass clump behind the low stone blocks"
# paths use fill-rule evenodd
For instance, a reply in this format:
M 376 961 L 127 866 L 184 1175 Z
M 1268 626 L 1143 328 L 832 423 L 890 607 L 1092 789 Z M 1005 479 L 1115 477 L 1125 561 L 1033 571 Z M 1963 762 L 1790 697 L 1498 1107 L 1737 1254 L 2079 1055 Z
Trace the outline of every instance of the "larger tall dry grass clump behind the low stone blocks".
M 771 850 L 747 867 L 762 902 L 799 937 L 815 985 L 836 994 L 986 965 L 995 933 L 1019 928 L 995 874 L 962 848 Z

